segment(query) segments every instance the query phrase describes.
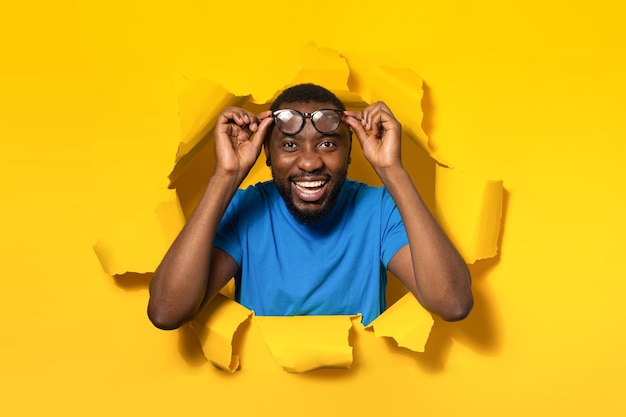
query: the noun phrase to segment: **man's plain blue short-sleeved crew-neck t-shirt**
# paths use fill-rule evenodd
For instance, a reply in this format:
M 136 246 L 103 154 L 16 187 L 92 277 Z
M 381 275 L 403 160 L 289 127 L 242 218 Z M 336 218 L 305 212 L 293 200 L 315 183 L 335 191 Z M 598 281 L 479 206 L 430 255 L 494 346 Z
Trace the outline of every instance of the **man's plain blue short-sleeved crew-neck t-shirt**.
M 235 193 L 214 245 L 239 265 L 235 298 L 260 316 L 353 315 L 385 310 L 387 265 L 408 244 L 384 187 L 346 180 L 315 225 L 299 223 L 273 181 Z

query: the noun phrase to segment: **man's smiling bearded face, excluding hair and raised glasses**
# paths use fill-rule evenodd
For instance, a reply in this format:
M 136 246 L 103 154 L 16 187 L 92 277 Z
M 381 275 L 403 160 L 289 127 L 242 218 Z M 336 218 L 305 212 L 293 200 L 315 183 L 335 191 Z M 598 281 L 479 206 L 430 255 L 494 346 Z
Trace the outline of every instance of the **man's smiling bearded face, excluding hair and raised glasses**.
M 284 103 L 280 109 L 311 113 L 336 109 L 330 103 Z M 320 221 L 334 207 L 350 162 L 350 131 L 345 123 L 332 133 L 320 133 L 306 119 L 302 130 L 286 135 L 272 129 L 265 152 L 274 183 L 289 211 L 304 224 Z

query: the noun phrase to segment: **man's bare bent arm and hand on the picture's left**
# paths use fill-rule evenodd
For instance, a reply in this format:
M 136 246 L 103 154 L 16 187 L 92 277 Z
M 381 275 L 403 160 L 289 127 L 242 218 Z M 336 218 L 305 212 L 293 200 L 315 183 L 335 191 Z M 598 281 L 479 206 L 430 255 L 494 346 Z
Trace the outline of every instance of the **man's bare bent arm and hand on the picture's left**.
M 237 272 L 236 262 L 213 247 L 218 225 L 235 191 L 257 160 L 268 114 L 229 107 L 215 128 L 216 168 L 204 195 L 150 282 L 148 317 L 161 329 L 193 319 Z

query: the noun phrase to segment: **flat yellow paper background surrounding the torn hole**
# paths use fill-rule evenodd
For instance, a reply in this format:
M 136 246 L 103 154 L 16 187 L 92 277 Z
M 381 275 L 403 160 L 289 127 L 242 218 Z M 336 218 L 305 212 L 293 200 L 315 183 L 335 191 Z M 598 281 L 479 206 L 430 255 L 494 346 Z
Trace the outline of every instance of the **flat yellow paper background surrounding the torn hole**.
M 623 415 L 622 6 L 290 4 L 0 3 L 0 414 Z M 92 245 L 167 184 L 174 74 L 263 98 L 309 41 L 353 83 L 377 65 L 425 80 L 437 151 L 504 181 L 501 254 L 424 354 L 365 337 L 350 371 L 292 375 L 256 351 L 226 374 L 189 329 L 151 327 L 147 277 L 111 278 Z

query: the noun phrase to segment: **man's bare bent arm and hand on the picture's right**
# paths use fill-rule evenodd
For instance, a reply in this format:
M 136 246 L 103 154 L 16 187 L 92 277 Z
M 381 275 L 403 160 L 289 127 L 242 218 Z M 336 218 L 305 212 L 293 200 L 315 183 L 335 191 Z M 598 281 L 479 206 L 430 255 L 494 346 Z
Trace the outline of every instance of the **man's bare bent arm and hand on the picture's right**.
M 382 102 L 346 115 L 363 154 L 398 206 L 409 238 L 389 262 L 389 270 L 424 308 L 444 320 L 462 320 L 474 303 L 469 271 L 402 166 L 400 123 Z

